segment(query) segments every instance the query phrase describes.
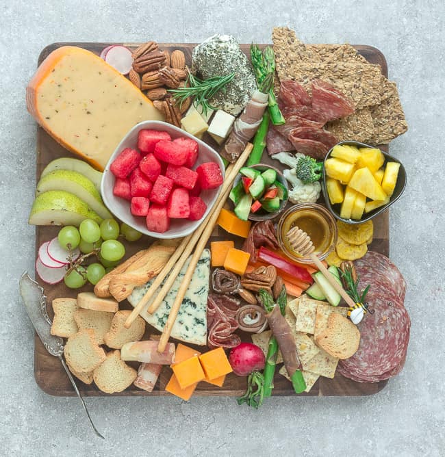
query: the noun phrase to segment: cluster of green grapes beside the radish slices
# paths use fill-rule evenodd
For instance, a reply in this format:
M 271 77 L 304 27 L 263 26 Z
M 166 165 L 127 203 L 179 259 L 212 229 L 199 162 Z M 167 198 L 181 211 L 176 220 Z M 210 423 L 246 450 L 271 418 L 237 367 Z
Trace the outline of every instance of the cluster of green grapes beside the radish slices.
M 125 246 L 118 241 L 119 235 L 127 241 L 137 241 L 142 233 L 125 223 L 119 227 L 114 219 L 104 219 L 100 225 L 92 219 L 86 219 L 81 222 L 79 229 L 71 225 L 63 227 L 58 234 L 60 246 L 71 251 L 79 248 L 84 254 L 66 273 L 65 285 L 70 289 L 79 289 L 87 281 L 95 285 L 105 273 L 116 267 L 125 255 Z M 96 254 L 99 262 L 83 265 L 88 254 Z

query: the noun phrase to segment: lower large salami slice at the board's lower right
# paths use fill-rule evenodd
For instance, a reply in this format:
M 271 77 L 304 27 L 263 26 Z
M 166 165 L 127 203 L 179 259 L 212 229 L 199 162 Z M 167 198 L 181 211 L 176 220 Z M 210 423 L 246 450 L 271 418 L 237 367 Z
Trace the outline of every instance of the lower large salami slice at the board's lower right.
M 397 374 L 403 367 L 411 326 L 401 300 L 392 300 L 385 293 L 371 292 L 370 310 L 357 326 L 359 349 L 339 363 L 339 373 L 361 382 L 377 382 Z

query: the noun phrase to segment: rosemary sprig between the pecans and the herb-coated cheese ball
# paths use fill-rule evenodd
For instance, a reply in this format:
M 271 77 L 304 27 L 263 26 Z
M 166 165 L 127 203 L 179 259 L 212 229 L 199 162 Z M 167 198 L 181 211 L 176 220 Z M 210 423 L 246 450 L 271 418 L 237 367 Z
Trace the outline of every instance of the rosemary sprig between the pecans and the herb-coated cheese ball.
M 189 70 L 186 86 L 183 88 L 168 89 L 168 92 L 173 94 L 175 100 L 179 101 L 179 107 L 181 107 L 182 103 L 186 101 L 189 96 L 193 97 L 193 105 L 195 107 L 201 105 L 201 107 L 203 107 L 203 114 L 205 115 L 209 109 L 218 109 L 210 105 L 209 100 L 211 100 L 220 90 L 225 92 L 226 84 L 229 83 L 234 76 L 235 72 L 225 76 L 199 79 L 192 75 Z

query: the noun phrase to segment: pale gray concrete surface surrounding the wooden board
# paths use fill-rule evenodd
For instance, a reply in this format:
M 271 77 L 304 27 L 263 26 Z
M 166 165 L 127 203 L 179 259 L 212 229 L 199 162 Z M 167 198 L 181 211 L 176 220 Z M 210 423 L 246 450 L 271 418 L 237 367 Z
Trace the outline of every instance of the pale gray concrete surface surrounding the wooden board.
M 443 456 L 444 2 L 437 0 L 0 1 L 0 455 Z M 216 32 L 269 42 L 289 25 L 306 42 L 370 44 L 398 83 L 409 132 L 391 144 L 408 173 L 390 215 L 391 257 L 408 283 L 412 319 L 403 372 L 372 397 L 272 398 L 259 411 L 233 398 L 88 398 L 106 441 L 76 398 L 34 382 L 33 332 L 18 278 L 33 271 L 36 124 L 25 86 L 57 41 L 199 42 Z

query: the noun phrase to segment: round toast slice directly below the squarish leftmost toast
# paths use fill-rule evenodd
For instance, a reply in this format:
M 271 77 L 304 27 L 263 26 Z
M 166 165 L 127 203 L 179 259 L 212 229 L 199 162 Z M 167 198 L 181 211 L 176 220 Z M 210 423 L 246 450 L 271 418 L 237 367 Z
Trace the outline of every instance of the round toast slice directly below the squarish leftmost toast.
M 64 348 L 66 363 L 79 373 L 88 373 L 99 367 L 105 358 L 105 351 L 99 347 L 94 330 L 84 328 L 66 341 Z

